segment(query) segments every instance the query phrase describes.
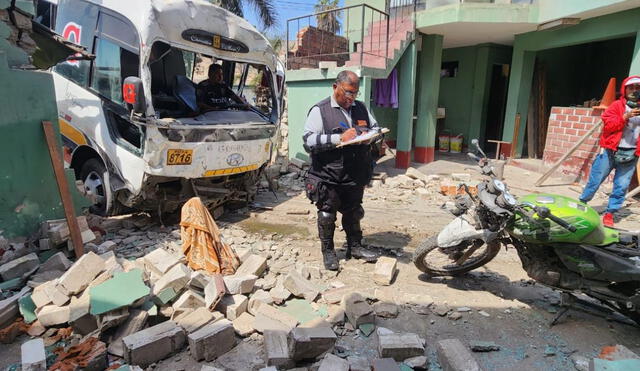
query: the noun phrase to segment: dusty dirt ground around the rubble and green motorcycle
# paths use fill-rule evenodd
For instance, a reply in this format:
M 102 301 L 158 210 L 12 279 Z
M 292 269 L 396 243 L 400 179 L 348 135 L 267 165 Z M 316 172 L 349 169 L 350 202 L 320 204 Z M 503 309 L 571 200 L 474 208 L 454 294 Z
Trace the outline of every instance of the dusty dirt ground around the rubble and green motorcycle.
M 390 177 L 403 173 L 392 167 L 393 158 L 386 158 L 376 169 Z M 438 161 L 418 168 L 430 175 L 449 176 L 451 173 L 471 174 L 472 182 L 479 180 L 473 164 L 462 156 L 440 157 Z M 505 181 L 516 196 L 527 193 L 557 193 L 577 197 L 579 187 L 557 184 L 536 188 L 533 183 L 540 174 L 512 166 L 505 167 Z M 438 183 L 438 182 L 436 182 Z M 262 192 L 256 200 L 264 206 L 240 213 L 225 214 L 219 221 L 223 236 L 240 229 L 251 241 L 273 241 L 272 254 L 277 249 L 299 252 L 297 262 L 321 266 L 321 255 L 315 227 L 315 207 L 305 198 L 299 187 L 281 190 L 276 196 Z M 426 339 L 429 369 L 438 370 L 435 344 L 438 340 L 458 338 L 463 343 L 492 341 L 499 351 L 474 353 L 485 370 L 572 370 L 572 357 L 596 356 L 606 345 L 622 344 L 640 353 L 640 328 L 623 323 L 619 315 L 594 315 L 582 310 L 570 310 L 558 324 L 550 322 L 560 307 L 560 294 L 531 281 L 520 265 L 515 250 L 502 250 L 486 266 L 455 278 L 429 278 L 422 275 L 411 262 L 416 246 L 428 236 L 437 233 L 451 219 L 451 214 L 441 205 L 447 197 L 434 192 L 416 194 L 412 190 L 398 190 L 377 185 L 365 192 L 363 220 L 365 242 L 378 246 L 386 255 L 396 257 L 399 273 L 391 286 L 381 287 L 373 283 L 373 264 L 359 260 L 341 261 L 341 270 L 330 282 L 342 282 L 354 287 L 367 297 L 381 300 L 385 295 L 416 295 L 431 298 L 434 306 L 460 312 L 461 318 L 453 320 L 434 312 L 417 314 L 400 307 L 397 318 L 376 318 L 378 327 L 395 332 L 413 332 Z M 599 194 L 594 200 L 596 208 L 606 204 L 606 196 Z M 638 204 L 629 204 L 618 224 L 621 228 L 638 228 Z M 339 224 L 339 222 L 338 222 Z M 175 235 L 176 227 L 160 231 Z M 244 239 L 242 237 L 241 239 Z M 235 237 L 232 241 L 235 241 Z M 336 246 L 344 242 L 344 233 L 338 228 Z M 274 248 L 273 246 L 277 246 Z M 269 250 L 269 249 L 268 249 Z M 343 256 L 343 252 L 339 252 Z M 324 278 L 324 276 L 323 276 Z M 386 294 L 385 294 L 386 293 Z M 391 294 L 389 294 L 391 293 Z M 433 308 L 433 307 L 432 307 Z M 357 331 L 347 332 L 337 343 L 337 352 L 345 357 L 377 358 L 376 333 L 364 337 Z M 19 362 L 18 339 L 12 345 L 0 347 L 0 366 Z M 18 345 L 16 345 L 18 344 Z M 228 370 L 252 370 L 265 367 L 262 340 L 252 336 L 239 342 L 231 352 L 210 363 L 197 363 L 185 349 L 182 353 L 154 365 L 156 370 L 200 370 L 202 365 Z

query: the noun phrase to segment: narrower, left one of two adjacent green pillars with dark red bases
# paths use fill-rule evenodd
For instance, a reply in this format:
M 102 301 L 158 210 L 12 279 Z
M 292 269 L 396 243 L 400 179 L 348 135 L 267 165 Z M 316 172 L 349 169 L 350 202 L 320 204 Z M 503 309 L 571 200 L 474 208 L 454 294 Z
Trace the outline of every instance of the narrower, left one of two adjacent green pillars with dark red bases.
M 411 162 L 413 136 L 413 105 L 415 101 L 417 51 L 415 41 L 407 47 L 400 60 L 398 86 L 398 141 L 396 167 L 406 169 Z

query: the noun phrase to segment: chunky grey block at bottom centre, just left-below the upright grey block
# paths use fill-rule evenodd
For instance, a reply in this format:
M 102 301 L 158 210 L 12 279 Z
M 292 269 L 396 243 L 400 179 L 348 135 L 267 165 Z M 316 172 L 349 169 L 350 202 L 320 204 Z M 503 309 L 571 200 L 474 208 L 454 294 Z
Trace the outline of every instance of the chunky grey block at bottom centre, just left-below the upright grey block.
M 289 333 L 289 352 L 294 361 L 314 359 L 329 352 L 338 337 L 331 328 L 295 328 Z

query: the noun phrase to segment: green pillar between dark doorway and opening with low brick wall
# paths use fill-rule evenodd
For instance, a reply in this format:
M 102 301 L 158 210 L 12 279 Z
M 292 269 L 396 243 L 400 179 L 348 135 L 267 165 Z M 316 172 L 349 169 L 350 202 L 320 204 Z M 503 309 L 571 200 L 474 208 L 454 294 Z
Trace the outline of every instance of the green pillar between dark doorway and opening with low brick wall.
M 527 131 L 527 110 L 529 108 L 529 95 L 531 94 L 531 84 L 533 82 L 533 69 L 536 62 L 536 52 L 513 49 L 513 59 L 511 64 L 511 75 L 509 77 L 509 93 L 507 96 L 507 112 L 504 118 L 504 129 L 502 140 L 513 141 L 516 115 L 520 114 L 520 129 L 518 135 L 518 148 L 516 156 L 522 153 L 524 144 L 524 133 Z

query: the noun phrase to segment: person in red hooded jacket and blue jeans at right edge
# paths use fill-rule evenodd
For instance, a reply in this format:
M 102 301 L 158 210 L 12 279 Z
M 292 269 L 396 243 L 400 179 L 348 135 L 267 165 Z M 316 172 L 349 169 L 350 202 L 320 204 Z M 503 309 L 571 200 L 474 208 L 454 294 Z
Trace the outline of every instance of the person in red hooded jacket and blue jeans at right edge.
M 613 216 L 624 203 L 640 156 L 640 76 L 624 79 L 620 93 L 620 99 L 602 114 L 604 127 L 600 135 L 600 153 L 591 165 L 589 181 L 580 196 L 580 201 L 584 203 L 591 201 L 611 170 L 616 170 L 613 191 L 602 216 L 602 222 L 607 227 L 613 227 Z

